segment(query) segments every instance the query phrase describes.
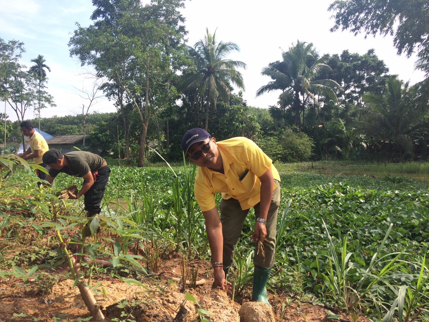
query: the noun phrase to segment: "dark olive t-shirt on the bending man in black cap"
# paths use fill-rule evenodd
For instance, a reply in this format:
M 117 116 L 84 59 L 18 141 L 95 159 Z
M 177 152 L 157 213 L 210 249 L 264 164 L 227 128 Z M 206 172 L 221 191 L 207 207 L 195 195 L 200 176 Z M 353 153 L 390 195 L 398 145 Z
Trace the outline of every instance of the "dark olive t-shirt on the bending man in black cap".
M 67 159 L 67 166 L 61 170 L 50 169 L 49 176 L 55 178 L 58 173 L 63 172 L 70 176 L 85 176 L 89 171 L 94 172 L 100 169 L 104 164 L 104 159 L 100 155 L 86 152 L 86 151 L 73 151 L 63 154 Z

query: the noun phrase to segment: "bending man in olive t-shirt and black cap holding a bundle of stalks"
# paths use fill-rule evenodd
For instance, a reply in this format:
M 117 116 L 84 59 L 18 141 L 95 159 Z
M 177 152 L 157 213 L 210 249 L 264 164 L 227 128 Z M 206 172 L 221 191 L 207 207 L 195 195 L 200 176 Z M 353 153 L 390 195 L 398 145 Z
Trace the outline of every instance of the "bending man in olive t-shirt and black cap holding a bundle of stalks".
M 45 152 L 43 162 L 51 169 L 46 181 L 51 184 L 58 173 L 63 172 L 70 176 L 82 177 L 84 182 L 77 194 L 69 192 L 70 199 L 79 199 L 85 196 L 84 204 L 87 216 L 100 213 L 101 200 L 109 180 L 110 168 L 100 155 L 86 151 L 73 151 L 62 154 L 52 149 Z

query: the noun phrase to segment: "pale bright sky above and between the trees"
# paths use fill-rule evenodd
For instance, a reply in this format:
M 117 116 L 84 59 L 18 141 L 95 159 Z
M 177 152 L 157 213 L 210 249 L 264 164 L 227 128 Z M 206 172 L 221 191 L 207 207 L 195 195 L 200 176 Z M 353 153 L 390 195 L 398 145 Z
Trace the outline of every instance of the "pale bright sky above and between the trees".
M 270 81 L 260 72 L 270 62 L 280 60 L 282 50 L 287 51 L 297 40 L 313 43 L 320 55 L 341 54 L 345 49 L 363 55 L 373 48 L 378 58 L 389 67 L 389 73 L 398 74 L 411 85 L 423 79 L 423 72 L 414 70 L 415 55 L 411 58 L 396 55 L 392 37 L 368 36 L 365 39 L 362 34 L 354 36 L 348 31 L 331 33 L 333 12 L 328 12 L 327 8 L 332 2 L 187 0 L 181 12 L 189 31 L 188 45 L 192 46 L 204 38 L 206 27 L 210 33 L 216 30 L 218 41 L 231 41 L 239 45 L 240 52 L 231 53 L 229 58 L 247 64 L 247 69 L 240 71 L 245 82 L 243 97 L 250 106 L 267 108 L 276 104 L 280 92 L 255 97 L 257 89 Z M 0 38 L 24 43 L 26 52 L 21 63 L 28 68 L 33 65 L 30 60 L 37 55 L 43 55 L 45 64 L 51 68 L 47 91 L 54 97 L 57 106 L 42 109 L 41 116 L 82 113 L 82 104 L 88 105 L 88 100 L 79 97 L 78 94 L 82 95 L 79 89 L 91 89 L 93 80 L 85 77 L 85 70 L 76 57 L 70 57 L 67 44 L 76 30 L 76 22 L 82 27 L 92 24 L 89 19 L 94 11 L 91 0 L 0 0 L 0 7 Z M 4 103 L 0 104 L 0 111 L 3 112 Z M 90 112 L 115 110 L 113 102 L 102 98 L 91 107 Z M 15 112 L 7 105 L 6 114 L 11 121 L 17 119 Z M 35 117 L 32 109 L 26 112 L 25 118 Z

